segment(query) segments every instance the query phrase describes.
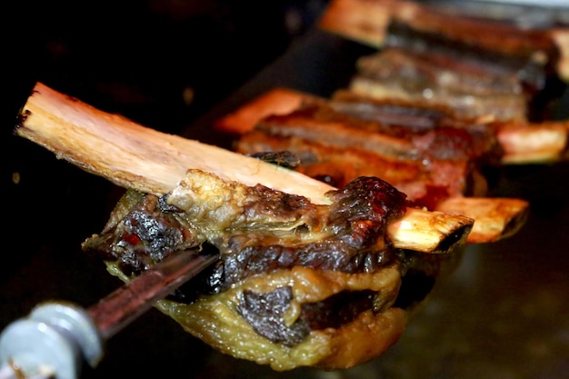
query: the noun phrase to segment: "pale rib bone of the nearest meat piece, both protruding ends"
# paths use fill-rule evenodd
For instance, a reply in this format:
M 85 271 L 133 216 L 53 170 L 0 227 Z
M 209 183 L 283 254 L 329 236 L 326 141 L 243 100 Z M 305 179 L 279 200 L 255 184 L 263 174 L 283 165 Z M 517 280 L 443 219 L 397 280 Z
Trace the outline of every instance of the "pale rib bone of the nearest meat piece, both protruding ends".
M 15 132 L 87 172 L 145 193 L 170 192 L 188 169 L 304 195 L 315 204 L 328 203 L 324 194 L 334 189 L 283 167 L 137 125 L 41 83 L 25 103 Z M 412 233 L 404 227 L 407 224 L 414 225 Z M 409 208 L 400 222 L 389 226 L 387 234 L 395 247 L 442 253 L 464 244 L 473 224 L 464 215 Z

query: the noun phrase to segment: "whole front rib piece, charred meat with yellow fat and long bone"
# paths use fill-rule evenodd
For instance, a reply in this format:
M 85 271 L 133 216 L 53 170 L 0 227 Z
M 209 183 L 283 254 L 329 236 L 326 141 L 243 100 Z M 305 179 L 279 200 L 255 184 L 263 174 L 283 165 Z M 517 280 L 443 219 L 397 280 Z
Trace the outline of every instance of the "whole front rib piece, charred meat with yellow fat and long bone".
M 204 288 L 156 306 L 216 349 L 275 370 L 350 367 L 383 353 L 456 256 L 422 252 L 454 251 L 474 222 L 408 207 L 374 177 L 336 189 L 42 84 L 16 133 L 128 189 L 83 246 L 122 280 L 179 248 L 219 249 Z M 416 276 L 428 285 L 406 279 Z

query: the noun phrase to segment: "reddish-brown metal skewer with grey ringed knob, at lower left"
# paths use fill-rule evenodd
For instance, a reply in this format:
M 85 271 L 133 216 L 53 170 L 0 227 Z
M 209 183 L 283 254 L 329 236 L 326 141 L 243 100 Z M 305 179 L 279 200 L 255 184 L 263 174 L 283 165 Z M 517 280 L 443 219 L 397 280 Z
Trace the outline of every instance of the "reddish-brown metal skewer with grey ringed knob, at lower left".
M 0 334 L 0 379 L 77 378 L 83 361 L 92 367 L 100 362 L 106 340 L 218 258 L 178 252 L 88 309 L 38 304 Z

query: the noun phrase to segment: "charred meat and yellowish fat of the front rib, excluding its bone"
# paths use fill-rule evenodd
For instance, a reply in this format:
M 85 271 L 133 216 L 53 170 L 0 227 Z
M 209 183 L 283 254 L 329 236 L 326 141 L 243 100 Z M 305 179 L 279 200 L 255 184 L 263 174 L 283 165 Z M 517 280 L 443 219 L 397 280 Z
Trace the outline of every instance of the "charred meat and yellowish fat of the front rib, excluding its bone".
M 206 192 L 196 194 L 204 188 Z M 391 309 L 395 302 L 401 312 L 409 311 L 428 294 L 447 258 L 438 255 L 426 264 L 427 258 L 390 244 L 386 227 L 401 218 L 407 206 L 406 196 L 392 185 L 361 177 L 327 195 L 330 205 L 314 205 L 302 196 L 193 172 L 180 188 L 162 197 L 127 191 L 103 232 L 83 247 L 128 277 L 180 248 L 213 246 L 221 252 L 219 264 L 200 276 L 199 285 L 182 287 L 165 300 L 160 305 L 165 312 L 177 318 L 180 309 L 211 305 L 216 296 L 232 294 L 235 302 L 224 304 L 231 314 L 228 319 L 195 324 L 193 315 L 181 324 L 202 337 L 227 323 L 250 327 L 247 334 L 282 355 L 265 354 L 258 346 L 257 351 L 240 351 L 231 340 L 216 340 L 215 345 L 232 354 L 255 354 L 255 361 L 278 370 L 307 364 L 307 359 L 331 367 L 328 359 L 318 362 L 322 347 L 299 361 L 291 358 L 291 351 L 315 344 L 314 338 L 333 330 L 342 335 L 362 317 L 372 322 L 398 313 Z M 291 284 L 299 280 L 299 270 L 303 280 L 312 277 L 308 293 L 298 288 L 301 283 Z M 410 278 L 420 273 L 430 284 L 406 284 L 407 273 Z M 405 297 L 399 298 L 402 285 Z

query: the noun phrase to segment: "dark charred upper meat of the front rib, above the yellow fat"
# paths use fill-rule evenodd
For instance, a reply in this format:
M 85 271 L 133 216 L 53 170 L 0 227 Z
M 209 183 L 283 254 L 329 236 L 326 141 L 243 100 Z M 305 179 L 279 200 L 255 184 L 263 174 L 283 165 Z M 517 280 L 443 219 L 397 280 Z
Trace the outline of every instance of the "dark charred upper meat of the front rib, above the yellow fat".
M 219 293 L 253 274 L 295 265 L 370 273 L 394 260 L 384 241 L 385 228 L 404 214 L 406 195 L 381 179 L 357 178 L 331 191 L 332 204 L 321 206 L 264 186 L 247 191 L 247 200 L 238 208 L 242 214 L 230 216 L 224 209 L 225 216 L 235 221 L 225 224 L 223 234 L 215 231 L 222 260 L 205 277 L 206 293 Z M 183 213 L 164 202 L 154 195 L 127 192 L 104 231 L 85 241 L 83 248 L 118 261 L 125 274 L 138 274 L 172 252 L 204 244 L 205 234 L 212 232 L 188 218 L 197 210 Z M 210 211 L 219 214 L 219 208 Z M 264 229 L 264 220 L 282 227 Z

